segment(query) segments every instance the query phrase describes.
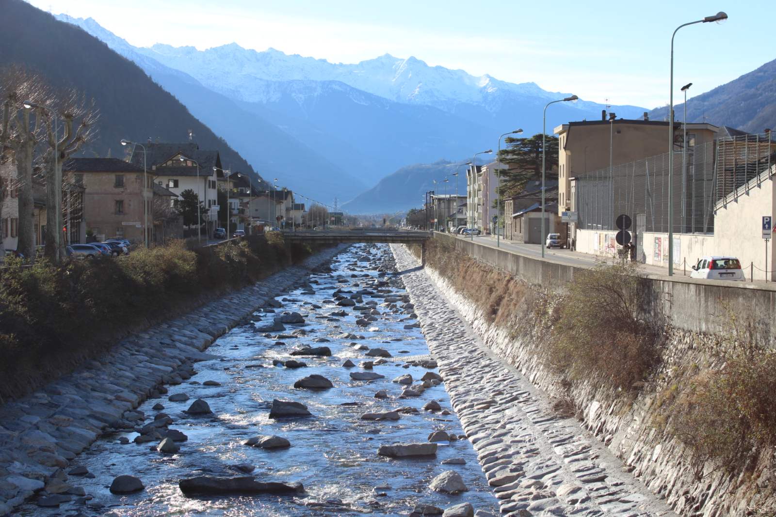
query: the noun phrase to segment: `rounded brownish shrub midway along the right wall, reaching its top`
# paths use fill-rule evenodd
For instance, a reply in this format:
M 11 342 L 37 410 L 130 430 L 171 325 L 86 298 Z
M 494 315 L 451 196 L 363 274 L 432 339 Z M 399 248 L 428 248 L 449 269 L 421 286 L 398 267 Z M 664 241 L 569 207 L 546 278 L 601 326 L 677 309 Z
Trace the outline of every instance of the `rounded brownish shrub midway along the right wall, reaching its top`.
M 572 380 L 599 379 L 630 390 L 659 361 L 659 336 L 638 317 L 636 266 L 577 270 L 560 299 L 549 364 Z

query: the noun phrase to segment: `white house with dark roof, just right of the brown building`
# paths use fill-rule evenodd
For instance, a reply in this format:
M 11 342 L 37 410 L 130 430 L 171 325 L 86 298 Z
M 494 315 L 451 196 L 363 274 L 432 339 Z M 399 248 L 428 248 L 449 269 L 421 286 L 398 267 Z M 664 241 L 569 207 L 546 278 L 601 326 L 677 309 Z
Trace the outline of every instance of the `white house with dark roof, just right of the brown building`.
M 217 185 L 223 179 L 223 167 L 217 150 L 202 150 L 194 142 L 158 143 L 148 142 L 143 147 L 135 146 L 130 162 L 137 167 L 145 164 L 153 181 L 175 193 L 178 199 L 185 190 L 194 191 L 205 207 L 202 222 L 203 233 L 212 235 L 218 224 Z M 196 233 L 195 233 L 196 235 Z

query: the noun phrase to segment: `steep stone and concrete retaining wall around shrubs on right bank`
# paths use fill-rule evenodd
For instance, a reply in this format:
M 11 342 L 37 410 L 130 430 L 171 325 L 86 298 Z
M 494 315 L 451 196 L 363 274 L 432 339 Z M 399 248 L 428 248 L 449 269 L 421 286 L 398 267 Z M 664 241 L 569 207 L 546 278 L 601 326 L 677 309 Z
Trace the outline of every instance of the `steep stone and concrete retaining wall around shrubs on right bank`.
M 545 288 L 549 288 L 550 296 L 553 290 L 562 292 L 563 282 L 573 278 L 573 267 L 520 257 L 470 241 L 456 241 L 456 249 L 469 253 L 480 264 L 494 267 L 494 272 L 504 275 L 504 281 L 507 271 L 511 274 L 517 271 L 515 276 L 521 278 L 526 288 L 537 293 L 536 298 L 546 295 Z M 653 307 L 646 308 L 645 314 L 655 318 L 662 327 L 665 345 L 659 370 L 634 399 L 632 395 L 603 387 L 594 378 L 575 382 L 570 387 L 560 382 L 542 359 L 546 357 L 543 339 L 549 333 L 539 332 L 542 322 L 536 319 L 530 307 L 511 314 L 510 321 L 490 322 L 492 318 L 483 307 L 453 288 L 453 283 L 460 285 L 461 278 L 442 277 L 434 266 L 434 255 L 428 253 L 427 273 L 490 350 L 521 371 L 549 397 L 570 401 L 577 409 L 581 425 L 621 458 L 625 469 L 632 470 L 650 490 L 665 498 L 677 513 L 718 517 L 752 515 L 747 508 L 757 509 L 758 488 L 767 492 L 767 487 L 773 483 L 770 471 L 755 466 L 751 472 L 734 476 L 726 474 L 719 465 L 694 461 L 690 451 L 666 433 L 666 417 L 661 406 L 667 392 L 688 383 L 689 372 L 693 369 L 715 366 L 715 358 L 719 357 L 716 353 L 719 350 L 715 350 L 715 346 L 719 346 L 715 332 L 720 329 L 719 312 L 723 302 L 735 307 L 752 303 L 769 307 L 773 303 L 773 292 L 647 279 L 646 288 L 658 299 L 653 301 Z M 470 271 L 462 267 L 459 274 L 465 277 Z M 477 286 L 478 289 L 487 287 Z M 747 300 L 747 295 L 757 302 Z M 697 311 L 707 305 L 715 305 L 715 310 L 719 311 L 717 321 L 703 315 L 693 320 L 692 314 L 698 314 Z M 669 319 L 667 315 L 674 316 Z M 671 324 L 674 321 L 677 325 Z

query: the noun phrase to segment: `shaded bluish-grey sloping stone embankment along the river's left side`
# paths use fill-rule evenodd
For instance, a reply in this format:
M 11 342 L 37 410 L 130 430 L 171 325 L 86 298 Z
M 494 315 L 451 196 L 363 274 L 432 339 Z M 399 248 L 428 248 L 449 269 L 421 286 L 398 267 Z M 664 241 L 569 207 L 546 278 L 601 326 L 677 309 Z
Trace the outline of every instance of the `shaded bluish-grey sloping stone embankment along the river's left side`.
M 123 339 L 99 360 L 89 360 L 74 374 L 0 408 L 0 515 L 43 491 L 51 505 L 83 497 L 83 489 L 68 482 L 67 467 L 103 429 L 123 427 L 133 418 L 130 410 L 167 391 L 163 384 L 181 384 L 191 377 L 194 362 L 213 357 L 203 350 L 218 336 L 345 247 L 324 250 L 258 284 Z M 189 411 L 199 409 L 195 402 Z

